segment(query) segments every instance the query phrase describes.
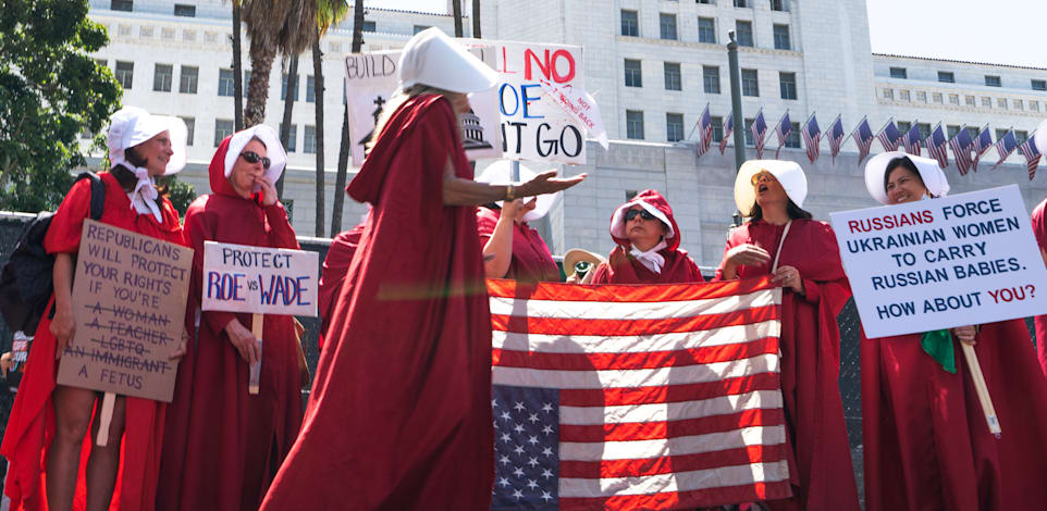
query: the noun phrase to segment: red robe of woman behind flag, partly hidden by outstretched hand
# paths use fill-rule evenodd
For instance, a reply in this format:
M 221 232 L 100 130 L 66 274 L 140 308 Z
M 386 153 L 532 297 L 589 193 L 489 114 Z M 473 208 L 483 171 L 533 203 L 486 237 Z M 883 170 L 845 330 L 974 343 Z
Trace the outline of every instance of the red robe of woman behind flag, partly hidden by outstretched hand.
M 501 216 L 501 210 L 477 208 L 481 248 L 491 239 Z M 513 222 L 513 259 L 504 278 L 528 283 L 559 282 L 559 267 L 556 266 L 556 261 L 553 261 L 552 252 L 538 230 L 532 229 L 526 222 Z

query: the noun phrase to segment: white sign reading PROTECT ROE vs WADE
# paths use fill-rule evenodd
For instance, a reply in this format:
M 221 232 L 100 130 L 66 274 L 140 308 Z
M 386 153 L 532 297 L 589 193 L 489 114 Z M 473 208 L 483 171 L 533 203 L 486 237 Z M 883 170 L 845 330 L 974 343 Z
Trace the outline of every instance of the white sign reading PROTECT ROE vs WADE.
M 206 241 L 201 309 L 315 316 L 319 267 L 317 252 Z

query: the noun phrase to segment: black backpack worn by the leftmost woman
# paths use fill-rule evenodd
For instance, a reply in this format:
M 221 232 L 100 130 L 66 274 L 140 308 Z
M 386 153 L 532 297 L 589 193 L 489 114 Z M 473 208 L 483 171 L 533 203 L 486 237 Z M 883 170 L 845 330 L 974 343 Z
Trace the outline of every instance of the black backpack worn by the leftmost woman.
M 91 182 L 91 220 L 102 217 L 106 204 L 106 184 L 94 172 L 76 176 L 76 180 Z M 54 291 L 52 271 L 54 256 L 44 249 L 44 237 L 54 213 L 44 211 L 22 229 L 11 258 L 0 270 L 0 312 L 11 332 L 22 331 L 32 337 L 40 324 L 47 303 Z

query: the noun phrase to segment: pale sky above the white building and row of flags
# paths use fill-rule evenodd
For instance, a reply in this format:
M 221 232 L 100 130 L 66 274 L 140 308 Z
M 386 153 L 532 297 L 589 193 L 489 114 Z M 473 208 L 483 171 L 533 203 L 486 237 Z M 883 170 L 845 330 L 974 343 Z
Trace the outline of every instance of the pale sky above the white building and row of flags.
M 875 53 L 1047 68 L 1045 0 L 865 1 Z M 366 3 L 422 12 L 447 9 L 446 0 L 368 0 Z

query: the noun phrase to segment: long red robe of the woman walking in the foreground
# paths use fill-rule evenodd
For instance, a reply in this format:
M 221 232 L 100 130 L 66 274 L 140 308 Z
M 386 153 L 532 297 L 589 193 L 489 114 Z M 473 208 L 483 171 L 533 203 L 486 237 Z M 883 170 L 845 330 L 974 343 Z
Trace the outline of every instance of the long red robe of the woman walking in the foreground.
M 472 176 L 451 103 L 420 96 L 349 184 L 373 209 L 262 510 L 490 508 L 491 316 L 476 209 L 442 201 L 448 158 Z

